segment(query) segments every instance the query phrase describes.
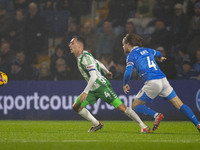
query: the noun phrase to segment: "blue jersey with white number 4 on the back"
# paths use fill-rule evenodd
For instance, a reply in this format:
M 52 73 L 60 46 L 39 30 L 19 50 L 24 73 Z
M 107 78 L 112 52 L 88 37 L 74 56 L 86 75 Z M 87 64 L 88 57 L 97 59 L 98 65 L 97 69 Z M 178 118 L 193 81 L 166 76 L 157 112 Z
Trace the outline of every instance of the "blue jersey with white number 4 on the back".
M 127 66 L 126 72 L 124 74 L 124 84 L 130 80 L 130 76 L 127 77 L 126 74 L 132 74 L 133 68 L 137 70 L 143 81 L 162 79 L 165 74 L 158 67 L 154 56 L 161 57 L 159 51 L 144 48 L 135 47 L 126 58 Z

